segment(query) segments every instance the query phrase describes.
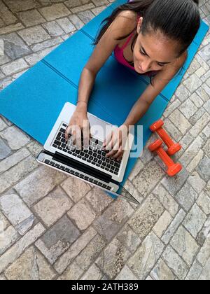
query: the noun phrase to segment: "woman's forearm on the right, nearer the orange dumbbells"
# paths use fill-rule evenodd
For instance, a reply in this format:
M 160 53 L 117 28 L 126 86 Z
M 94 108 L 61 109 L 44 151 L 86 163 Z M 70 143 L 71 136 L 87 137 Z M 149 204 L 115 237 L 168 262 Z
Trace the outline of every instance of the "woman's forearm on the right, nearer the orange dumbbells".
M 127 125 L 127 127 L 130 125 L 135 125 L 140 120 L 140 118 L 144 116 L 149 107 L 150 104 L 140 97 L 132 107 L 124 125 Z

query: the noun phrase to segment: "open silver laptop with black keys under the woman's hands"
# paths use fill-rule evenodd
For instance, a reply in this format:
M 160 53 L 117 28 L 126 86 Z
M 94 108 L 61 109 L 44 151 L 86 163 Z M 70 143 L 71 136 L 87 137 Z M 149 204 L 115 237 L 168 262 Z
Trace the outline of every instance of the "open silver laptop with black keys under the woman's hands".
M 87 112 L 87 118 L 90 123 L 90 144 L 86 148 L 79 150 L 73 145 L 71 136 L 66 143 L 65 131 L 69 125 L 69 120 L 75 111 L 76 106 L 66 102 L 57 118 L 55 125 L 45 141 L 43 151 L 38 154 L 36 160 L 42 164 L 57 169 L 64 174 L 76 177 L 97 186 L 102 190 L 124 197 L 125 199 L 139 204 L 139 202 L 123 187 L 120 182 L 123 181 L 127 161 L 130 157 L 134 134 L 129 132 L 125 144 L 123 158 L 119 161 L 105 158 L 106 151 L 103 148 L 104 139 L 107 136 L 107 130 L 113 130 L 116 125 L 101 120 L 92 113 Z M 122 192 L 118 194 L 118 190 Z

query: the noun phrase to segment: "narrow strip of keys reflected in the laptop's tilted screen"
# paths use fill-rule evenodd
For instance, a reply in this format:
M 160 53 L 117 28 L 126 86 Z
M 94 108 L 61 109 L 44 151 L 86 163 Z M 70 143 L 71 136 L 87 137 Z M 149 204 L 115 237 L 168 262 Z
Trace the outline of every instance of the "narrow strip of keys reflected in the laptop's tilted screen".
M 97 186 L 106 188 L 107 190 L 111 190 L 111 187 L 106 185 L 105 183 L 102 183 L 101 181 L 94 180 L 94 179 L 90 178 L 89 176 L 85 176 L 84 174 L 81 174 L 79 172 L 75 172 L 73 169 L 69 169 L 69 167 L 64 167 L 63 165 L 59 165 L 58 163 L 53 162 L 52 160 L 45 159 L 44 163 L 46 165 L 50 165 L 51 167 L 56 167 L 57 169 L 61 169 L 64 172 L 72 174 L 73 176 L 77 176 L 80 179 L 89 181 L 90 183 L 94 183 Z

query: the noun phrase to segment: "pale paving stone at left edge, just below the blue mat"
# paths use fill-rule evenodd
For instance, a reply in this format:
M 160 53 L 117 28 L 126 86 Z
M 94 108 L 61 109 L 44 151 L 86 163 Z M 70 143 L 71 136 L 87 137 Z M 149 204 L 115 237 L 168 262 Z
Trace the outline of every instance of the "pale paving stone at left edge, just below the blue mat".
M 5 139 L 8 146 L 12 150 L 18 150 L 25 146 L 29 141 L 29 137 L 21 132 L 18 127 L 8 127 L 1 132 L 1 138 Z

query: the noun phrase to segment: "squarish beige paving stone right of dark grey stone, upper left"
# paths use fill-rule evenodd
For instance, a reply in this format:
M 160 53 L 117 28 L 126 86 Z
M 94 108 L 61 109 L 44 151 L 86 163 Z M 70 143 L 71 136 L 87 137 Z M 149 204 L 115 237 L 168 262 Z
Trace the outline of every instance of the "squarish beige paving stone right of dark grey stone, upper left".
M 18 34 L 24 39 L 27 45 L 33 45 L 50 38 L 48 33 L 40 25 L 22 29 L 22 31 L 18 31 Z

